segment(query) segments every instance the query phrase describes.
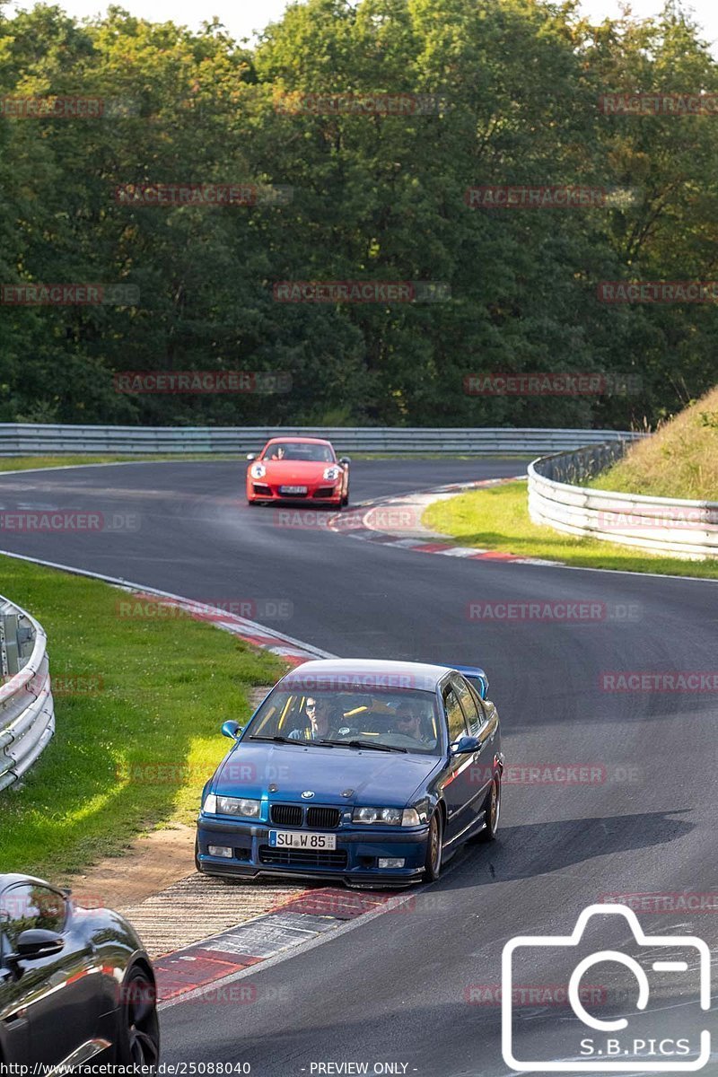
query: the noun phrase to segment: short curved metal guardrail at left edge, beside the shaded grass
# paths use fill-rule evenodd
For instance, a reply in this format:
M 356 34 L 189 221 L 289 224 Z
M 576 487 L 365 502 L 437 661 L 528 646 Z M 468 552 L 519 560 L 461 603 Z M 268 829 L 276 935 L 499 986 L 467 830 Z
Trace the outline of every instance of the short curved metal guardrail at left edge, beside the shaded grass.
M 0 791 L 29 770 L 55 732 L 47 640 L 34 617 L 0 596 Z

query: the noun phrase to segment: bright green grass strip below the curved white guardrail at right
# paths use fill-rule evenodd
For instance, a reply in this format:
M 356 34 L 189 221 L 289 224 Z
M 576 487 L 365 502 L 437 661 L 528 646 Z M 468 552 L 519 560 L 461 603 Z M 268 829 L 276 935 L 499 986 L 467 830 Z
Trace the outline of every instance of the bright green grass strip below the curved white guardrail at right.
M 685 561 L 637 554 L 613 543 L 572 538 L 552 528 L 532 523 L 525 482 L 470 490 L 447 501 L 435 501 L 424 512 L 423 522 L 432 531 L 455 538 L 462 546 L 498 549 L 520 557 L 538 557 L 588 569 L 621 569 L 718 579 L 718 561 Z

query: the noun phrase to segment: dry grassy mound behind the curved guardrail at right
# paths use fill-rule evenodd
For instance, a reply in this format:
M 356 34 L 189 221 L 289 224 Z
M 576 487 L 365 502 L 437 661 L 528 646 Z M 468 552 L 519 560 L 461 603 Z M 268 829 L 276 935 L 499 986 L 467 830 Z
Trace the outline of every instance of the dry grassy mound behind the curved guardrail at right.
M 718 501 L 718 388 L 590 484 L 600 490 Z

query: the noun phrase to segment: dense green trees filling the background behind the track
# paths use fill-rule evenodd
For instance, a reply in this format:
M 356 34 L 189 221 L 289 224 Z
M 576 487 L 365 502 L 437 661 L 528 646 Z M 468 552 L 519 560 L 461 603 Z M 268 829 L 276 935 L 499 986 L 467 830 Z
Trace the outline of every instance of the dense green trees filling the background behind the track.
M 718 380 L 715 304 L 599 302 L 707 280 L 718 113 L 611 115 L 602 94 L 714 93 L 676 9 L 591 26 L 572 3 L 308 0 L 255 48 L 111 8 L 0 15 L 0 95 L 119 101 L 0 114 L 0 284 L 123 283 L 133 302 L 0 305 L 0 421 L 605 425 Z M 292 94 L 439 95 L 313 114 Z M 124 102 L 124 103 L 123 103 Z M 109 111 L 109 110 L 108 110 Z M 256 205 L 123 204 L 125 184 L 252 184 Z M 593 185 L 606 205 L 470 208 L 467 187 Z M 291 197 L 271 197 L 290 187 Z M 434 281 L 433 303 L 280 303 L 278 281 Z M 285 372 L 282 393 L 132 395 L 113 374 Z M 474 372 L 637 375 L 640 391 L 475 396 Z M 633 387 L 630 382 L 630 387 Z

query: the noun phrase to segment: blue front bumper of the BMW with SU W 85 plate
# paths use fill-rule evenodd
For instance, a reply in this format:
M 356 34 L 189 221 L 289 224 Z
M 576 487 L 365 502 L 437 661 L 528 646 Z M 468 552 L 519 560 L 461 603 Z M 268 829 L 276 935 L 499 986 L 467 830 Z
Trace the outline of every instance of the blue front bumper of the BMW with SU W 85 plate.
M 385 885 L 406 885 L 423 875 L 427 826 L 388 829 L 381 834 L 376 830 L 368 833 L 368 827 L 354 826 L 319 831 L 336 837 L 334 853 L 270 849 L 269 831 L 277 829 L 288 828 L 200 815 L 197 822 L 197 866 L 206 875 L 243 879 L 281 876 L 284 879 L 342 880 L 347 883 Z M 210 845 L 230 848 L 231 858 L 210 856 Z M 404 867 L 380 868 L 380 857 L 403 858 Z M 281 858 L 284 863 L 279 863 Z

